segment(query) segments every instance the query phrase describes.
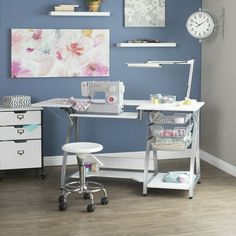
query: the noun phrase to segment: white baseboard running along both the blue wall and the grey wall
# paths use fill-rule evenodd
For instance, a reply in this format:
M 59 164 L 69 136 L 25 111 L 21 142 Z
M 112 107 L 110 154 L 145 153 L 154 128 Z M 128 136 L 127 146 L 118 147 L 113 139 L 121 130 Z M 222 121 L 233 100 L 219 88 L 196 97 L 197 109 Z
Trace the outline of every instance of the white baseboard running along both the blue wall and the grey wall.
M 104 168 L 112 169 L 135 169 L 143 170 L 145 152 L 120 152 L 120 153 L 106 153 L 97 154 L 99 160 L 104 164 Z M 236 177 L 236 167 L 222 161 L 221 159 L 207 153 L 200 151 L 200 158 L 207 163 L 217 167 L 218 169 Z M 152 156 L 151 156 L 152 159 Z M 163 157 L 163 159 L 168 159 Z M 45 156 L 45 166 L 60 166 L 62 164 L 62 156 Z M 69 156 L 68 165 L 76 165 L 76 157 L 74 155 Z M 150 161 L 150 169 L 153 170 L 153 162 Z

